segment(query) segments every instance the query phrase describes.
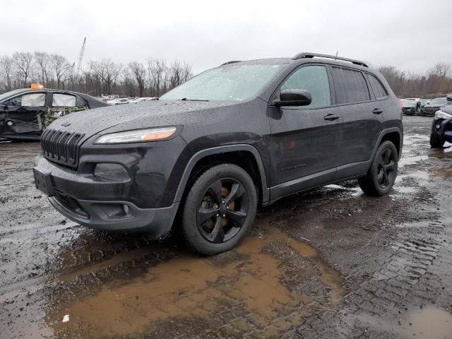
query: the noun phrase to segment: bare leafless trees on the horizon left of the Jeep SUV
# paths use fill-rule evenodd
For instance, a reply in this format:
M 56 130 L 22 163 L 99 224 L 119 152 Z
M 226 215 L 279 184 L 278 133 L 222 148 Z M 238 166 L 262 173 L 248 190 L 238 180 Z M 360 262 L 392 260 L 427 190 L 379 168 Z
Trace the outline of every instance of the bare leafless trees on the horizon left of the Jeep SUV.
M 78 65 L 77 65 L 78 66 Z M 0 57 L 0 93 L 40 83 L 46 88 L 76 90 L 98 97 L 155 97 L 191 78 L 191 65 L 149 58 L 121 64 L 112 59 L 88 61 L 81 71 L 66 57 L 46 52 L 14 52 Z

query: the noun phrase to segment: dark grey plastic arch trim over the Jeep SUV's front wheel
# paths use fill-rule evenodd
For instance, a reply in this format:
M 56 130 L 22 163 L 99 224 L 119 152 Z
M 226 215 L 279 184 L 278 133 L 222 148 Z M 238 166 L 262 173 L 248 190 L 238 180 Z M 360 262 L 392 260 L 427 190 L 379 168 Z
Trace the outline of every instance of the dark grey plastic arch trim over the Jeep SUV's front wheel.
M 270 189 L 268 189 L 261 155 L 252 145 L 238 144 L 207 148 L 195 153 L 184 169 L 174 201 L 182 201 L 191 179 L 197 177 L 203 169 L 222 162 L 233 163 L 244 168 L 258 187 L 258 202 L 265 203 L 269 200 Z

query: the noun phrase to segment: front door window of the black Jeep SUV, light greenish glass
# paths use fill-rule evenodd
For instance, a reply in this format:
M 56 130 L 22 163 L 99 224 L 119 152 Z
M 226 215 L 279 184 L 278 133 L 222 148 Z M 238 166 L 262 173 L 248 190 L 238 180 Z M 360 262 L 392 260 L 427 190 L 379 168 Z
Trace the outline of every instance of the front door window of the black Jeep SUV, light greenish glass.
M 304 66 L 283 83 L 280 90 L 293 88 L 297 90 L 309 90 L 312 95 L 311 105 L 303 108 L 317 108 L 331 105 L 330 83 L 325 66 Z

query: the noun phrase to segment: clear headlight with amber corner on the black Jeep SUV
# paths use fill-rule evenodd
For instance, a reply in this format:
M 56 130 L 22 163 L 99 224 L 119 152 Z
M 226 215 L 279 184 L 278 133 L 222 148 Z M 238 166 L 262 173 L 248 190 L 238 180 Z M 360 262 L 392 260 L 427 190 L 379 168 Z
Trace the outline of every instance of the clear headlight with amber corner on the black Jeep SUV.
M 139 143 L 169 138 L 176 127 L 157 127 L 155 129 L 136 129 L 134 131 L 105 134 L 97 138 L 95 143 Z

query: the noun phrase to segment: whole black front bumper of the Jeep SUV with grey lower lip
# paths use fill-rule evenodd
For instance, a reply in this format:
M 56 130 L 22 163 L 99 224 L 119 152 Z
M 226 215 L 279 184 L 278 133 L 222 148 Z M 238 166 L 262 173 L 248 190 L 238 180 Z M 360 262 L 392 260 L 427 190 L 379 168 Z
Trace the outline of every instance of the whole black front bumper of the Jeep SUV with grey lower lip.
M 81 151 L 78 168 L 59 165 L 40 155 L 33 168 L 35 182 L 59 213 L 81 225 L 162 238 L 171 230 L 179 208 L 172 192 L 177 185 L 174 180 L 169 183 L 169 177 L 172 169 L 179 168 L 174 163 L 185 145 L 181 138 L 165 143 L 173 152 L 168 152 L 163 143 L 146 143 L 140 148 L 91 147 Z M 96 163 L 121 164 L 129 177 L 100 180 L 93 174 Z

